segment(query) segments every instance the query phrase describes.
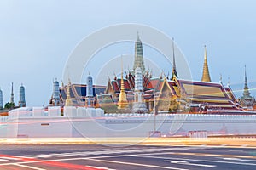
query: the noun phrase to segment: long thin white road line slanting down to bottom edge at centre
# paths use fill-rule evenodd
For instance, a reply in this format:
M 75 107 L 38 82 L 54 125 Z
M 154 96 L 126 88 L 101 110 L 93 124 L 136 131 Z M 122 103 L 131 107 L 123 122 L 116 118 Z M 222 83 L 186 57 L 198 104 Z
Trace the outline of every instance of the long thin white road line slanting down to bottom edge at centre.
M 116 164 L 122 164 L 122 165 L 132 165 L 132 166 L 139 166 L 139 167 L 155 167 L 158 169 L 175 169 L 175 170 L 187 170 L 184 168 L 177 168 L 177 167 L 162 167 L 162 166 L 156 166 L 156 165 L 148 165 L 148 164 L 141 164 L 141 163 L 132 163 L 132 162 L 125 162 L 125 161 L 108 161 L 108 160 L 97 160 L 97 159 L 91 159 L 91 158 L 83 158 L 84 160 L 90 160 L 90 161 L 102 161 L 107 163 L 116 163 Z

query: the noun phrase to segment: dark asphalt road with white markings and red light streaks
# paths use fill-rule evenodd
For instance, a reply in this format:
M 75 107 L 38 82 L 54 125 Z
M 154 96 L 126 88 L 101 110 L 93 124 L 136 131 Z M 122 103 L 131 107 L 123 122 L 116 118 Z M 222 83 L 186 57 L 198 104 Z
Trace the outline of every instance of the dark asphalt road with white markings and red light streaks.
M 210 146 L 0 145 L 0 169 L 256 169 L 256 149 Z

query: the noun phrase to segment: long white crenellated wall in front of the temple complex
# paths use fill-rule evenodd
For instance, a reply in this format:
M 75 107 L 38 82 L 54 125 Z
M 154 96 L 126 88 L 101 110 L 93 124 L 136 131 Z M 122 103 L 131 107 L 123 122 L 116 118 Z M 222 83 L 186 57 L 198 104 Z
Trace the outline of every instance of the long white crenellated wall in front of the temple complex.
M 155 118 L 155 123 L 154 123 Z M 0 118 L 0 137 L 147 137 L 189 131 L 207 134 L 256 134 L 256 116 L 188 114 L 108 114 L 102 109 L 65 107 L 20 108 Z

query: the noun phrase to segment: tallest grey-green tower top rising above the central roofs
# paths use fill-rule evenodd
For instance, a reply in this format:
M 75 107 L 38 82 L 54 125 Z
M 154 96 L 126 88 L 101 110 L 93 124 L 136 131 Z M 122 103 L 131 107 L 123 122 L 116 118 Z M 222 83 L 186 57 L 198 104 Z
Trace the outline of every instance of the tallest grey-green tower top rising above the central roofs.
M 137 67 L 141 68 L 141 70 L 143 71 L 143 74 L 145 73 L 145 65 L 143 60 L 143 43 L 140 40 L 138 32 L 137 32 L 137 41 L 135 42 L 133 71 L 135 71 Z

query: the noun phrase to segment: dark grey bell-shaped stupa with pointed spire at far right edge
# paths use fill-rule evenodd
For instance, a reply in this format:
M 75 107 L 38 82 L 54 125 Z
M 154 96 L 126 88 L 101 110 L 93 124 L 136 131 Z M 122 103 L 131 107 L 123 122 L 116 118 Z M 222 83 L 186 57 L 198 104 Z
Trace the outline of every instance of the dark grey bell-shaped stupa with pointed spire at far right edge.
M 241 98 L 239 99 L 239 103 L 245 110 L 253 110 L 253 106 L 256 105 L 255 99 L 251 96 L 248 88 L 247 82 L 247 71 L 245 66 L 245 76 L 244 76 L 244 88 Z

